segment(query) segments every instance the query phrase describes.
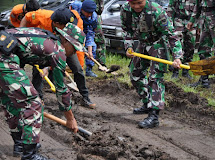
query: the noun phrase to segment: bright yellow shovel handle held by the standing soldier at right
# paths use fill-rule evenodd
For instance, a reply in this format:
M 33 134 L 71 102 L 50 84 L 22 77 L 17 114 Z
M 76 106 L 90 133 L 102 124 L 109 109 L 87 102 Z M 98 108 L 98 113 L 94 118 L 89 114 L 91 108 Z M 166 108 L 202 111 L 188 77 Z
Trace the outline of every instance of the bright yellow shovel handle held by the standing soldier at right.
M 152 57 L 152 56 L 147 56 L 147 55 L 136 53 L 136 52 L 131 52 L 131 50 L 129 50 L 128 52 L 130 54 L 133 54 L 134 56 L 141 57 L 141 58 L 144 58 L 144 59 L 149 59 L 149 60 L 152 60 L 152 61 L 156 61 L 156 62 L 160 62 L 160 63 L 165 63 L 165 64 L 169 64 L 169 65 L 173 64 L 172 61 L 168 61 L 168 60 L 165 60 L 165 59 L 160 59 L 160 58 L 156 58 L 156 57 Z M 190 69 L 190 66 L 184 65 L 184 64 L 180 64 L 180 67 L 184 68 L 184 69 Z

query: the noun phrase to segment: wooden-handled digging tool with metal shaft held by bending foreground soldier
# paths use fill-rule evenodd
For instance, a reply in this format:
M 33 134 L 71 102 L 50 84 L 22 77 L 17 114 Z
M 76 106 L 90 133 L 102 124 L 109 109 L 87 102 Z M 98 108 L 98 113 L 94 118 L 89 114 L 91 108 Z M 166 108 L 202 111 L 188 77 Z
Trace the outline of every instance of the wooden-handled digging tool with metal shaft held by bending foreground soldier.
M 57 123 L 59 123 L 59 124 L 61 124 L 61 125 L 63 125 L 63 126 L 66 126 L 66 121 L 64 121 L 64 120 L 62 120 L 62 119 L 60 119 L 60 118 L 58 118 L 58 117 L 56 117 L 56 116 L 54 116 L 54 115 L 51 115 L 51 114 L 49 114 L 49 113 L 46 113 L 46 112 L 43 112 L 43 114 L 44 114 L 44 116 L 45 116 L 46 118 L 48 118 L 48 119 L 50 119 L 50 120 L 53 120 L 53 121 L 55 121 L 55 122 L 57 122 Z M 92 132 L 87 131 L 87 130 L 81 128 L 81 127 L 78 127 L 78 130 L 79 130 L 81 133 L 84 133 L 85 135 L 88 135 L 88 136 L 91 136 L 91 135 L 92 135 Z

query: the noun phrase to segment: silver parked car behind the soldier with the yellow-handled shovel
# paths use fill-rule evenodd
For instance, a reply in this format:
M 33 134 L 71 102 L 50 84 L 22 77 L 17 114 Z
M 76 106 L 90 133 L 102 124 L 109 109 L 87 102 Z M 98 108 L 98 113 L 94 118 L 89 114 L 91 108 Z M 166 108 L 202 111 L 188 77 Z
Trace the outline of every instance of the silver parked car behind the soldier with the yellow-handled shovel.
M 160 0 L 151 0 L 159 3 Z M 105 36 L 107 50 L 125 54 L 122 28 L 120 20 L 120 9 L 127 0 L 106 0 L 102 12 L 102 30 Z M 161 5 L 167 8 L 169 0 L 163 0 Z M 138 41 L 134 41 L 134 49 Z

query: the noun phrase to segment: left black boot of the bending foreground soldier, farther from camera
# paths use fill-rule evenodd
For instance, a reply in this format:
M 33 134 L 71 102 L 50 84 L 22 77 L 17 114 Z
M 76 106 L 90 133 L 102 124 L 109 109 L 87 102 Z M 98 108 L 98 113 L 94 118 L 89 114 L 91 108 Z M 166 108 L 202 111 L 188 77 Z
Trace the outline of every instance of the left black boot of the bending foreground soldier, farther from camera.
M 14 141 L 13 156 L 14 157 L 22 156 L 22 151 L 23 151 L 22 140 L 21 140 L 22 132 L 11 132 L 10 135 L 12 136 Z

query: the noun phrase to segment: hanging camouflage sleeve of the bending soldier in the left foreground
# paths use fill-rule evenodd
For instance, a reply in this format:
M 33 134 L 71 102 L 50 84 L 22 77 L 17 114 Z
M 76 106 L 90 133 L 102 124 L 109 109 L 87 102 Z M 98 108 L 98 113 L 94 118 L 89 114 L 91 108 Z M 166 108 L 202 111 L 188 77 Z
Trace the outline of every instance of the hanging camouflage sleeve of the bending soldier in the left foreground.
M 59 110 L 69 111 L 72 108 L 71 91 L 65 84 L 64 74 L 66 68 L 65 49 L 57 42 L 52 48 L 52 53 L 49 56 L 53 72 L 53 83 L 56 88 L 56 97 L 59 105 Z M 50 45 L 44 46 L 44 49 L 50 51 Z

